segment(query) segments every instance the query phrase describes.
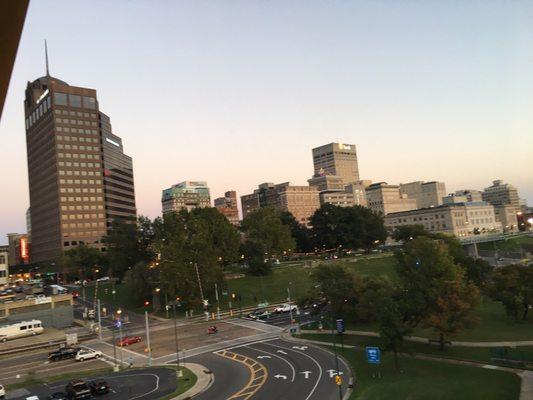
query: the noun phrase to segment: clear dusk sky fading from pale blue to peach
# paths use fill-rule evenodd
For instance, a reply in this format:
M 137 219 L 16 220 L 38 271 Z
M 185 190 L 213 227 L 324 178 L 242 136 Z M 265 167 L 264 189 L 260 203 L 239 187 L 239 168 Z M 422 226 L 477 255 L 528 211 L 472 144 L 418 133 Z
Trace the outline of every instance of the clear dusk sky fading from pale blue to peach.
M 311 149 L 357 145 L 361 179 L 515 185 L 533 204 L 533 2 L 32 1 L 0 121 L 0 243 L 25 232 L 23 99 L 50 72 L 95 88 L 133 157 L 138 212 L 306 184 Z

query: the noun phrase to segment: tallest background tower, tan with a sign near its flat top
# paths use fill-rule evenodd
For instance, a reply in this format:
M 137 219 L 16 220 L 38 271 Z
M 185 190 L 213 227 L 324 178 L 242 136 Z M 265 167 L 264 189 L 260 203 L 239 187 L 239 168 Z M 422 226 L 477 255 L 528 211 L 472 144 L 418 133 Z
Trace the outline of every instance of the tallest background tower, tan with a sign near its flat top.
M 359 180 L 357 151 L 354 144 L 329 143 L 314 148 L 313 166 L 314 177 L 336 175 L 345 185 Z

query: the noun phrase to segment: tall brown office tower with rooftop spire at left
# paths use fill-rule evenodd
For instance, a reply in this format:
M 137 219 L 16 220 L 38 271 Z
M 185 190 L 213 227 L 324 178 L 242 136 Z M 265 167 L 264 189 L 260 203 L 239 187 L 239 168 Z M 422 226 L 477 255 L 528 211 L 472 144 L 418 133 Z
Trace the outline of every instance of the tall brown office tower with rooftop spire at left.
M 31 261 L 82 243 L 103 248 L 108 222 L 136 213 L 131 159 L 100 114 L 96 90 L 54 78 L 47 66 L 46 76 L 28 82 L 24 110 Z

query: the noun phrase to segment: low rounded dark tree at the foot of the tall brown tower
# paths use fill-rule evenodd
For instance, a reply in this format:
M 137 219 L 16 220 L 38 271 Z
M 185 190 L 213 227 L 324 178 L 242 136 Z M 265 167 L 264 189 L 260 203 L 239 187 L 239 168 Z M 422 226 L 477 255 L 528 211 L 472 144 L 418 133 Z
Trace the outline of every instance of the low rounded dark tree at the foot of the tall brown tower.
M 95 269 L 103 267 L 104 257 L 100 250 L 81 244 L 65 251 L 59 258 L 63 273 L 75 274 L 79 279 L 94 277 Z

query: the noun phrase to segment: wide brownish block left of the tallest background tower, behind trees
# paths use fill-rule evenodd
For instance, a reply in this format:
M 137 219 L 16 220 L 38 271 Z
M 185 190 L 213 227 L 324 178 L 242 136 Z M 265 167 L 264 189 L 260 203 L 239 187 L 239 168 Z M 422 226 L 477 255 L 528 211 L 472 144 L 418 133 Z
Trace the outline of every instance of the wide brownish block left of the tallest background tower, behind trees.
M 253 193 L 241 196 L 243 217 L 260 207 L 275 207 L 289 211 L 296 220 L 308 225 L 309 219 L 320 207 L 319 192 L 311 186 L 295 186 L 289 182 L 274 185 L 263 183 Z

